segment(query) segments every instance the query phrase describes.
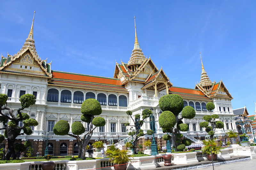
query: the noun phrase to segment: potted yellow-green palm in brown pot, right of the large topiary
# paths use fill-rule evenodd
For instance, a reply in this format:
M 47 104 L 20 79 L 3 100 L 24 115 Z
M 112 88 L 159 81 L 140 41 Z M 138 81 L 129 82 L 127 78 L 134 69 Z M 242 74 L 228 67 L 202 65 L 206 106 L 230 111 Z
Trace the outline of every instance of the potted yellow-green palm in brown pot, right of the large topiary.
M 217 154 L 220 153 L 220 146 L 214 142 L 214 140 L 203 140 L 204 147 L 202 148 L 203 153 L 207 154 L 208 160 L 216 160 Z M 212 154 L 211 154 L 211 146 L 212 146 Z

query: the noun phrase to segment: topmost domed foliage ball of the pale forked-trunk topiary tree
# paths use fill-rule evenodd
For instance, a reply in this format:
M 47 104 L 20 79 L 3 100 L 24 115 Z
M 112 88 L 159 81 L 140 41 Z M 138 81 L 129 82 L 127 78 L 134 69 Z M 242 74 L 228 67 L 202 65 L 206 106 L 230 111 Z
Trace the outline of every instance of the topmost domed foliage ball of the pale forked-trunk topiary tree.
M 95 99 L 84 100 L 81 113 L 86 115 L 100 115 L 102 113 L 100 103 Z

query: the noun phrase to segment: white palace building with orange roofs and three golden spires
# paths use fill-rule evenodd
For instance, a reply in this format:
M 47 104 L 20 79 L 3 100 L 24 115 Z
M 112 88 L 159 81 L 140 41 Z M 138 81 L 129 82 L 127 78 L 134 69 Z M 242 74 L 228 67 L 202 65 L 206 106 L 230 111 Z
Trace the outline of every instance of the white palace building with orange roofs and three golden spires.
M 201 79 L 195 88 L 173 86 L 164 70 L 158 69 L 153 60 L 143 54 L 137 38 L 136 25 L 132 55 L 129 60 L 127 58 L 127 63 L 116 63 L 113 78 L 52 70 L 57 61 L 53 60 L 49 63 L 47 59 L 43 60 L 39 57 L 33 28 L 34 18 L 28 38 L 19 52 L 14 55 L 2 55 L 0 63 L 0 92 L 8 95 L 7 104 L 14 109 L 15 114 L 20 108 L 21 95 L 36 96 L 36 104 L 22 112 L 36 119 L 39 125 L 31 127 L 32 135 L 21 135 L 16 140 L 16 143 L 31 141 L 34 148 L 33 156 L 36 156 L 37 152 L 44 155 L 46 140 L 42 138 L 42 134 L 47 135 L 47 131 L 51 137 L 47 144 L 50 154 L 54 156 L 78 154 L 76 139 L 54 135 L 53 127 L 59 120 L 68 121 L 70 127 L 73 122 L 81 122 L 81 104 L 89 98 L 100 102 L 102 114 L 99 116 L 106 120 L 105 126 L 94 130 L 90 144 L 97 140 L 104 141 L 104 136 L 106 141 L 114 136 L 115 143 L 128 137 L 127 128 L 124 126 L 126 122 L 130 122 L 126 115 L 127 110 L 131 110 L 135 115 L 141 114 L 146 108 L 153 108 L 153 118 L 158 120 L 162 113 L 158 101 L 166 94 L 181 95 L 184 106 L 189 105 L 196 110 L 195 118 L 183 119 L 184 123 L 188 124 L 189 130 L 182 133 L 192 141 L 197 142 L 197 139 L 207 137 L 205 129 L 199 127 L 199 123 L 204 121 L 203 116 L 211 114 L 206 110 L 207 102 L 214 103 L 215 109 L 212 114 L 218 114 L 219 120 L 224 122 L 224 129 L 217 129 L 215 133 L 219 138 L 224 138 L 227 129 L 236 129 L 231 105 L 233 98 L 223 82 L 212 82 L 202 62 Z M 4 110 L 3 114 L 8 115 L 8 112 Z M 88 126 L 87 123 L 83 123 L 84 127 Z M 19 126 L 22 125 L 23 122 L 19 122 Z M 3 127 L 2 123 L 0 127 Z M 141 129 L 145 131 L 153 129 L 157 144 L 165 144 L 162 140 L 164 133 L 158 123 L 156 127 L 144 123 Z M 4 130 L 1 130 L 0 134 L 4 134 Z M 147 138 L 152 136 L 141 137 L 140 142 Z M 7 145 L 5 141 L 1 147 L 7 149 Z

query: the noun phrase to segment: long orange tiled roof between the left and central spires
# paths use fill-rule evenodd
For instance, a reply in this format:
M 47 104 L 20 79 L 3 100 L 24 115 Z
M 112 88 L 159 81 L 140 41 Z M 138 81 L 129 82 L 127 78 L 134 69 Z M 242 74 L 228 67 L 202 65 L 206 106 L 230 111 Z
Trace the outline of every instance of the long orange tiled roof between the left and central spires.
M 52 70 L 52 79 L 48 84 L 52 86 L 128 93 L 124 86 L 122 86 L 119 79 L 69 73 L 64 71 Z

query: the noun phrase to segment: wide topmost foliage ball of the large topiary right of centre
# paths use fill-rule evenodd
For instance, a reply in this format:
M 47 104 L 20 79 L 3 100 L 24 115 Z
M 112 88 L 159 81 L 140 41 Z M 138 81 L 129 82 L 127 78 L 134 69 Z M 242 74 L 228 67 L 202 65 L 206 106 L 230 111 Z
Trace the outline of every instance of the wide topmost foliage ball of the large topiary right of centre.
M 162 111 L 171 111 L 175 115 L 182 111 L 183 106 L 182 97 L 178 94 L 168 94 L 159 99 L 160 109 Z

